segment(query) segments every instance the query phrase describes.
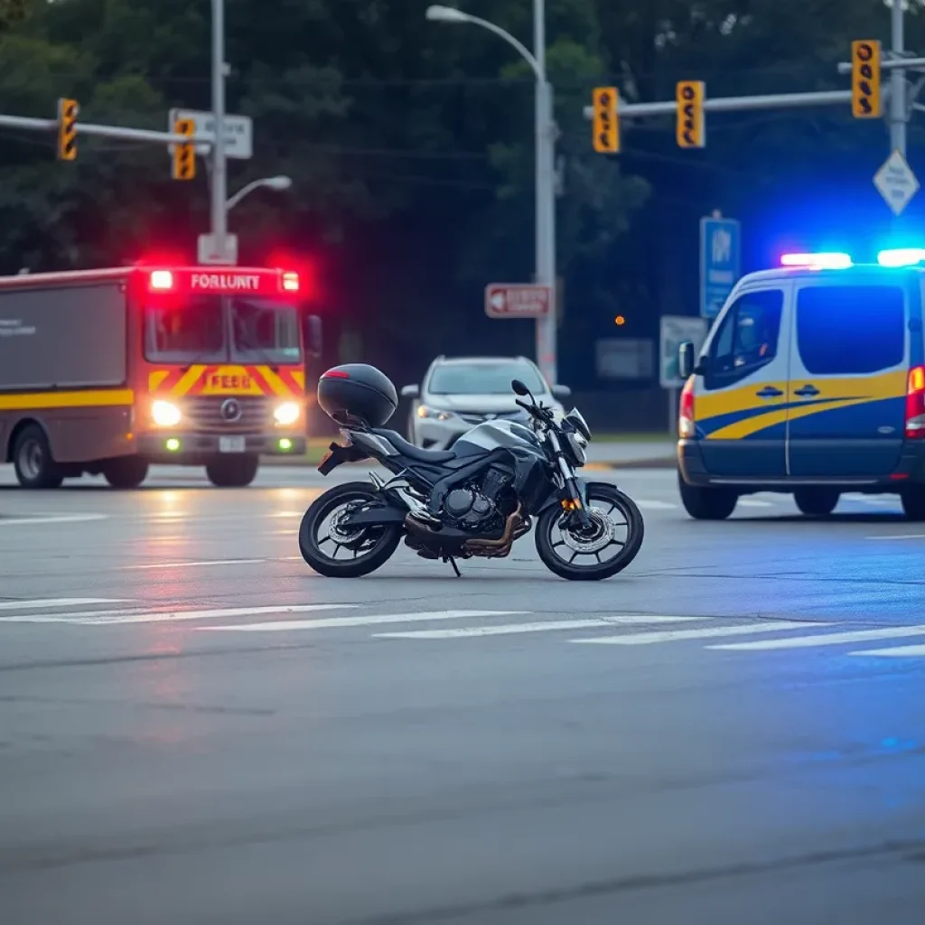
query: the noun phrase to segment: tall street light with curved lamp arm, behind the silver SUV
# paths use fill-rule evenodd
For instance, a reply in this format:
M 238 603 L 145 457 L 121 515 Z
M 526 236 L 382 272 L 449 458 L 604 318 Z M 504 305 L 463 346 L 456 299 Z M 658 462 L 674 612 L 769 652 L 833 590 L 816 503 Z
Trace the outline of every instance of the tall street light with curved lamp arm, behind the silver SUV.
M 536 319 L 536 362 L 550 386 L 556 385 L 556 138 L 552 88 L 546 76 L 546 3 L 533 0 L 533 47 L 530 50 L 487 19 L 452 6 L 428 6 L 431 22 L 469 23 L 494 32 L 516 49 L 536 76 L 536 282 L 553 293 L 549 317 Z

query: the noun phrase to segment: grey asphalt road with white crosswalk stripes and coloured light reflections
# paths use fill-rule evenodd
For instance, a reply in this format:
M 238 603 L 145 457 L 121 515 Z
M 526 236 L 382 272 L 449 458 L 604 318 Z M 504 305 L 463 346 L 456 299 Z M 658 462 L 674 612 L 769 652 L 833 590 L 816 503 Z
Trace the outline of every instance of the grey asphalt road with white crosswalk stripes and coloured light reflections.
M 925 529 L 619 481 L 599 585 L 321 578 L 301 470 L 0 488 L 0 921 L 920 925 Z

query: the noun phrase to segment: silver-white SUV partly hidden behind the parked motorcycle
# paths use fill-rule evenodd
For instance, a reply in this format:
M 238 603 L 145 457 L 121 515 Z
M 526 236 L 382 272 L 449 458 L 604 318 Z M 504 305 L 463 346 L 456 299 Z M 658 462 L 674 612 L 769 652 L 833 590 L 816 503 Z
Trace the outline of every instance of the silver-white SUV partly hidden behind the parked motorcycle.
M 484 421 L 525 419 L 526 413 L 514 404 L 512 379 L 520 379 L 537 401 L 560 413 L 559 400 L 572 394 L 565 386 L 549 388 L 536 364 L 523 356 L 439 356 L 430 364 L 423 385 L 401 389 L 403 398 L 413 400 L 409 439 L 425 450 L 447 450 Z

